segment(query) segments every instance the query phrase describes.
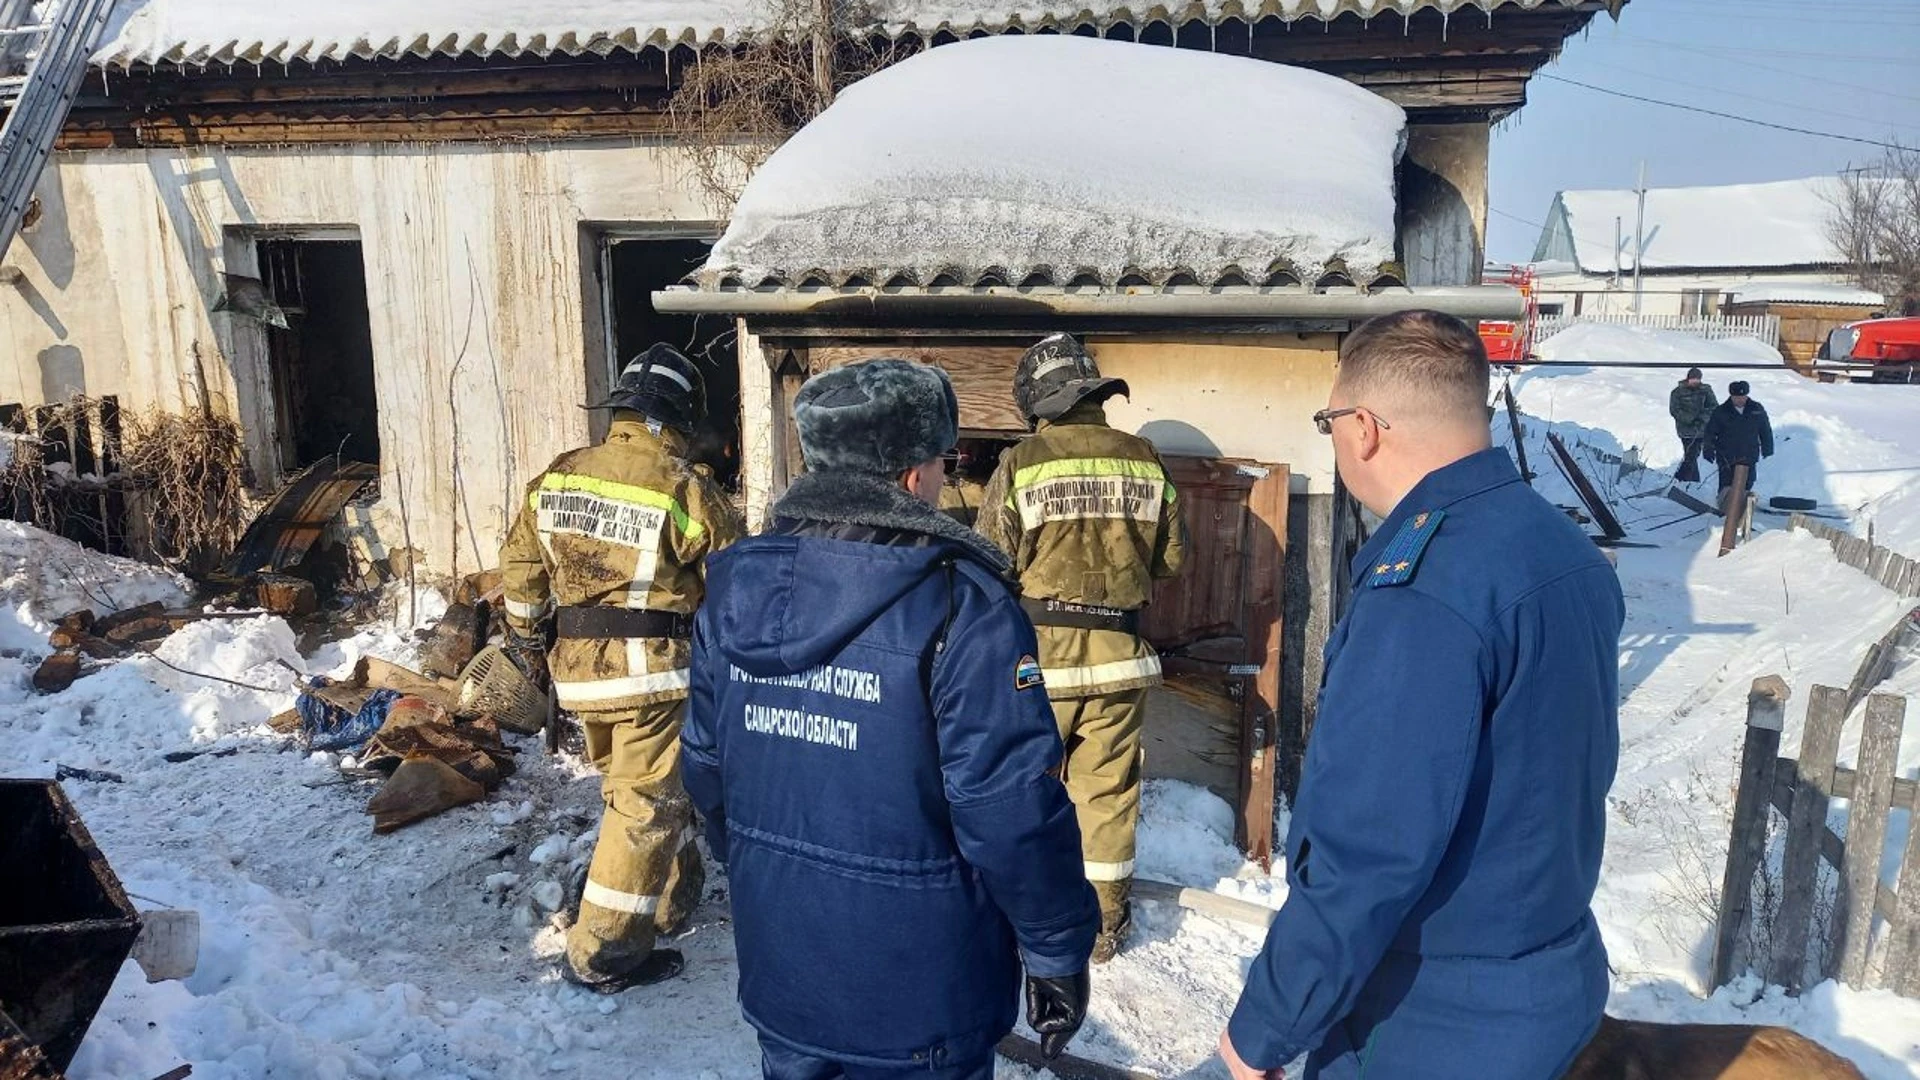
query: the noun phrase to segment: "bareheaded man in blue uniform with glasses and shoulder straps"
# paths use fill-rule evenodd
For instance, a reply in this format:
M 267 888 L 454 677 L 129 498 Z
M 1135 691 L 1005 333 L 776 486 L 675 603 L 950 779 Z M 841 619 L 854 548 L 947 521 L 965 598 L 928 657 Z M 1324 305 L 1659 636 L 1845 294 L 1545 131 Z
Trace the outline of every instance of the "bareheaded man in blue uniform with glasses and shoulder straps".
M 1492 450 L 1480 338 L 1340 348 L 1354 559 L 1286 836 L 1290 892 L 1221 1034 L 1236 1078 L 1551 1080 L 1599 1024 L 1590 903 L 1619 757 L 1619 580 Z

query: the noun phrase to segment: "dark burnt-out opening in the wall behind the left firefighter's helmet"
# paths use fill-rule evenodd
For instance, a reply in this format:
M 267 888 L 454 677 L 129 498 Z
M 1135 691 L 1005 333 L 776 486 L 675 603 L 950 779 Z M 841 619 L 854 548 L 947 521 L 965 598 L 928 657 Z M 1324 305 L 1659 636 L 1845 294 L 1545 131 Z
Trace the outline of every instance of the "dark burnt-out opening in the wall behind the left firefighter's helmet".
M 699 363 L 707 375 L 707 430 L 693 438 L 693 461 L 708 465 L 726 490 L 737 490 L 739 365 L 733 356 L 733 323 L 716 315 L 666 315 L 653 309 L 653 292 L 678 284 L 699 269 L 712 240 L 609 236 L 605 244 L 614 375 L 655 342 L 666 342 Z

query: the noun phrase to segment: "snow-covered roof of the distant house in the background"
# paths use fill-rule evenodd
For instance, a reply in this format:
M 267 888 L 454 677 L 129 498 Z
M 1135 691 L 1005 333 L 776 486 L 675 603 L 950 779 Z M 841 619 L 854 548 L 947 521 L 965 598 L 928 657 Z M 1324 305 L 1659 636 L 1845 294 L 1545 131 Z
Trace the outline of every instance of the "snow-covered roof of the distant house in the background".
M 1826 234 L 1837 181 L 1811 177 L 1764 184 L 1649 188 L 1645 269 L 1745 269 L 1836 265 Z M 1615 219 L 1620 267 L 1634 269 L 1632 190 L 1571 190 L 1553 200 L 1534 259 L 1571 259 L 1611 273 Z

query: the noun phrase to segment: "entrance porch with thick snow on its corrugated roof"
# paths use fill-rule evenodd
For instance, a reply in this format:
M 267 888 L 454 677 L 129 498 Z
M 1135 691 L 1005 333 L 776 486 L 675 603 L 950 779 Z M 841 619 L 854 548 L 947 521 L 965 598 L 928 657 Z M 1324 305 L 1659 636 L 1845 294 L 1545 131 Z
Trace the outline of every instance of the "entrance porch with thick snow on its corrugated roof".
M 1213 100 L 1269 121 L 1248 131 Z M 1071 37 L 933 50 L 781 146 L 708 263 L 655 307 L 741 321 L 745 429 L 764 434 L 743 457 L 751 511 L 803 469 L 789 417 L 810 375 L 935 363 L 962 434 L 1012 442 L 1021 352 L 1081 336 L 1131 388 L 1110 421 L 1156 446 L 1188 515 L 1188 569 L 1142 623 L 1171 676 L 1148 709 L 1148 771 L 1236 799 L 1242 844 L 1265 855 L 1363 528 L 1311 419 L 1340 336 L 1407 307 L 1476 321 L 1523 304 L 1407 286 L 1405 119 L 1348 81 L 1246 58 Z

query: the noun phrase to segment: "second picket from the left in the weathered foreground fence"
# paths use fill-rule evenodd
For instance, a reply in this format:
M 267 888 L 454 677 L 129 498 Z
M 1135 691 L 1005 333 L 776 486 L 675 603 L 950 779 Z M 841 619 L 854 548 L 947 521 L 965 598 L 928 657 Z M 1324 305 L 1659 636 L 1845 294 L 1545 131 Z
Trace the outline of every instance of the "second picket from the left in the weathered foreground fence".
M 1774 955 L 1768 982 L 1799 990 L 1807 982 L 1807 945 L 1814 894 L 1820 888 L 1820 830 L 1826 828 L 1828 790 L 1839 730 L 1847 723 L 1847 692 L 1814 686 L 1807 703 L 1807 730 L 1801 736 L 1799 784 L 1788 815 L 1788 847 L 1780 867 L 1780 917 L 1774 926 Z

